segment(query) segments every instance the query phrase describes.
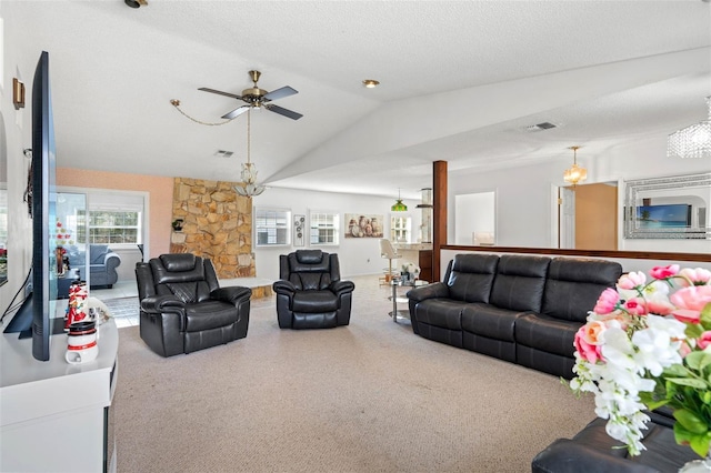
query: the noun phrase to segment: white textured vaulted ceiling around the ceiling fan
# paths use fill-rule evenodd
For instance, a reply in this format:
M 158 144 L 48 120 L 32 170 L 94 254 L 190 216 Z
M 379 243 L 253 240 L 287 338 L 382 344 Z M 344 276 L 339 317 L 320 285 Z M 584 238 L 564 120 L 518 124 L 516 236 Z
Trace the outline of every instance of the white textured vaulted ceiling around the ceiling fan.
M 206 127 L 169 101 L 219 122 L 241 102 L 198 88 L 239 94 L 250 69 L 297 89 L 277 103 L 304 114 L 252 115 L 261 179 L 412 198 L 434 160 L 483 171 L 572 144 L 593 159 L 704 119 L 711 94 L 700 0 L 149 2 L 0 3 L 32 68 L 50 52 L 60 165 L 238 180 L 246 117 Z M 525 131 L 543 121 L 559 128 Z

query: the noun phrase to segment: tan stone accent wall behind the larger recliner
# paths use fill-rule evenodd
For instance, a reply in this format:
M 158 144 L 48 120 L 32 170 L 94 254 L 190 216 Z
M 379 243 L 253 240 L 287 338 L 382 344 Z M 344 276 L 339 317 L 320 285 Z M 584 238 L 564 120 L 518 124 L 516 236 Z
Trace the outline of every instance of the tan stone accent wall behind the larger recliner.
M 209 258 L 218 278 L 254 278 L 252 200 L 233 182 L 176 178 L 173 217 L 182 231 L 171 233 L 171 253 Z

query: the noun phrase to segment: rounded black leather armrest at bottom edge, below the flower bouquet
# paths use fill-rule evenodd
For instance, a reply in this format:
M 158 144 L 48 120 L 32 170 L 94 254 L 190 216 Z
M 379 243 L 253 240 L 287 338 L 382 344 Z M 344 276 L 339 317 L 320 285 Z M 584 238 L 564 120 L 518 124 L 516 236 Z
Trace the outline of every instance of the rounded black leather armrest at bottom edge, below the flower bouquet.
M 531 462 L 532 473 L 659 473 L 625 457 L 612 456 L 575 442 L 558 439 Z

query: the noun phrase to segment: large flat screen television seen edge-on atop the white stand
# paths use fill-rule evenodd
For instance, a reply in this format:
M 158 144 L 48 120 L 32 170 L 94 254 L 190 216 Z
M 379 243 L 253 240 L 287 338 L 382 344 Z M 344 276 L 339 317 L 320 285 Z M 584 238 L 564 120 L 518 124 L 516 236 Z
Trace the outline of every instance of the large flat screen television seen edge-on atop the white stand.
M 32 83 L 32 283 L 31 293 L 24 300 L 6 333 L 19 332 L 20 338 L 32 336 L 32 356 L 48 361 L 50 336 L 62 332 L 62 319 L 56 319 L 57 276 L 54 274 L 54 248 L 51 244 L 50 222 L 57 220 L 54 205 L 56 154 L 52 97 L 49 80 L 49 53 L 42 51 L 34 70 Z

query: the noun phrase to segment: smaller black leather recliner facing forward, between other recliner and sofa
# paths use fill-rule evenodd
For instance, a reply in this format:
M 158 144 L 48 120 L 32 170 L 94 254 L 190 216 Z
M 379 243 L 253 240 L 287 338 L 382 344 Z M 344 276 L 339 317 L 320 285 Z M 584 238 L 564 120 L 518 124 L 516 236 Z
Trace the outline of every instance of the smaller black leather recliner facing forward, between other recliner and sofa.
M 279 256 L 277 319 L 281 329 L 348 325 L 356 284 L 341 281 L 338 254 L 297 250 Z

